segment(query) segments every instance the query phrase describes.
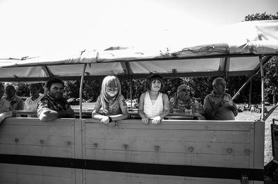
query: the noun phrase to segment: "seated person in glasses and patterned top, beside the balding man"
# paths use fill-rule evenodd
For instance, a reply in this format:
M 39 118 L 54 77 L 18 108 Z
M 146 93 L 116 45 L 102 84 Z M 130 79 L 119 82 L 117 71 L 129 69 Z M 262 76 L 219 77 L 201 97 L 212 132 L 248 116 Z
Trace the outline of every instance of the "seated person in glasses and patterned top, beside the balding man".
M 169 102 L 170 113 L 200 113 L 204 115 L 204 109 L 195 98 L 190 97 L 190 87 L 186 84 L 181 84 L 177 90 L 177 96 L 172 97 Z

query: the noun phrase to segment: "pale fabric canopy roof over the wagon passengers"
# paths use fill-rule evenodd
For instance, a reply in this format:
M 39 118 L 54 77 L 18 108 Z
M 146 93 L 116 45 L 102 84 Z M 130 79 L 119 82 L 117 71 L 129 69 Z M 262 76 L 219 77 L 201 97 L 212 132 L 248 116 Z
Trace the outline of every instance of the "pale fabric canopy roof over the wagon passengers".
M 145 77 L 154 71 L 164 77 L 253 75 L 260 66 L 259 56 L 267 62 L 272 55 L 278 55 L 278 21 L 241 22 L 202 35 L 181 34 L 180 39 L 174 40 L 172 33 L 167 34 L 159 43 L 142 38 L 141 44 L 111 46 L 106 50 L 76 50 L 79 52 L 76 55 L 49 53 L 1 58 L 0 81 L 46 81 L 50 77 L 80 79 L 84 64 L 87 65 L 85 78 Z M 161 35 L 154 37 L 158 36 Z M 190 42 L 187 42 L 189 37 Z

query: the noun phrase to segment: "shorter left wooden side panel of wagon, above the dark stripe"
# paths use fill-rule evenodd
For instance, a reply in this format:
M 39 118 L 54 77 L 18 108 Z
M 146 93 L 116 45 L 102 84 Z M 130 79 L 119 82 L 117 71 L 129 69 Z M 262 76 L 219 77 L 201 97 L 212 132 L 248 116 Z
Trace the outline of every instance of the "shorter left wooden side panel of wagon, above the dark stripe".
M 74 119 L 7 118 L 0 129 L 0 154 L 74 158 L 74 141 Z

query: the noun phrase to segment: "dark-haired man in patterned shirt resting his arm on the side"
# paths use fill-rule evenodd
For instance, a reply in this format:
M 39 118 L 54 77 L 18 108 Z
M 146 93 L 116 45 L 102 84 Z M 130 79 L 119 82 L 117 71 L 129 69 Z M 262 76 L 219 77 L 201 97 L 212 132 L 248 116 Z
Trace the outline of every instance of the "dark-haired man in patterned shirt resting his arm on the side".
M 38 104 L 38 118 L 42 121 L 74 118 L 74 111 L 63 98 L 64 83 L 54 78 L 47 82 L 46 88 L 47 91 Z

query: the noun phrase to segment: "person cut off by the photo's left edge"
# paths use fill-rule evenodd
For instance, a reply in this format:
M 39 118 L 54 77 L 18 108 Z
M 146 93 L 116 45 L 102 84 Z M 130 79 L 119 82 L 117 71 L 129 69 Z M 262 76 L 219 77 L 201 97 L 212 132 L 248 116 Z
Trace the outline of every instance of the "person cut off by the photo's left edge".
M 5 93 L 5 87 L 0 82 L 0 123 L 8 117 L 13 116 L 12 107 L 10 106 L 10 103 L 2 98 L 3 94 Z

